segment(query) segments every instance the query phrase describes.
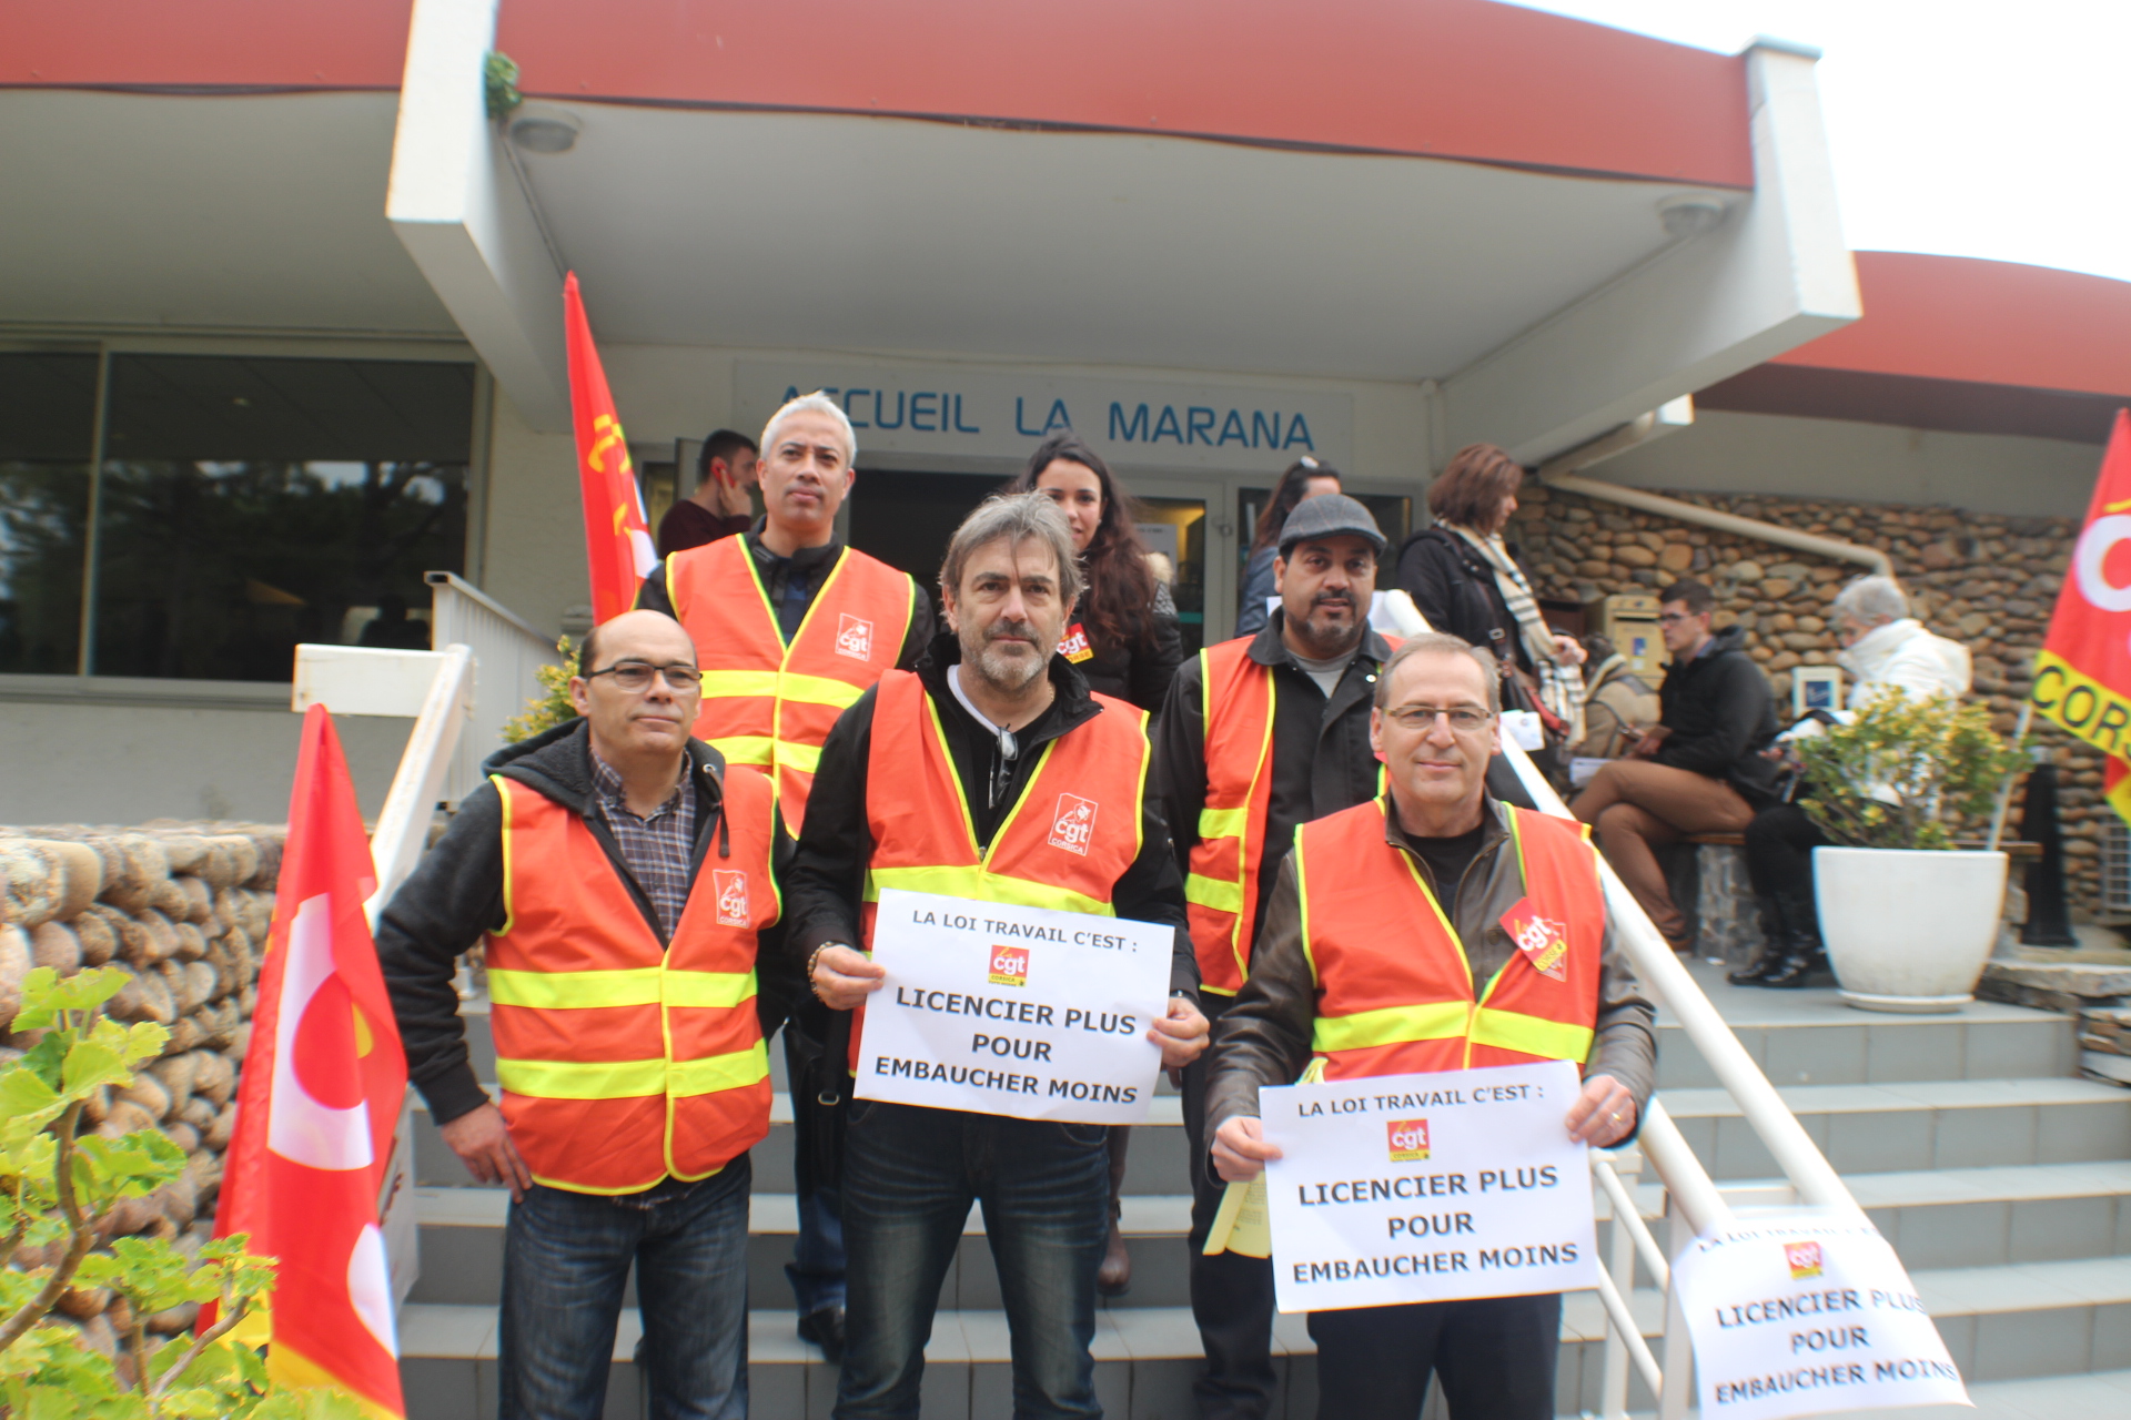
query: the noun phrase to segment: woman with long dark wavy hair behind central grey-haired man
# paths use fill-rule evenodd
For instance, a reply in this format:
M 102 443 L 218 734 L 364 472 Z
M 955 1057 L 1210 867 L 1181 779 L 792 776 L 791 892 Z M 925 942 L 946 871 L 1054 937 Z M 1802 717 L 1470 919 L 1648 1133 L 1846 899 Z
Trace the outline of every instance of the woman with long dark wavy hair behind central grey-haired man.
M 1066 622 L 1059 651 L 1080 666 L 1091 690 L 1159 711 L 1185 658 L 1183 632 L 1170 588 L 1134 528 L 1132 496 L 1078 434 L 1044 439 L 1008 492 L 1051 494 L 1080 554 L 1087 592 Z

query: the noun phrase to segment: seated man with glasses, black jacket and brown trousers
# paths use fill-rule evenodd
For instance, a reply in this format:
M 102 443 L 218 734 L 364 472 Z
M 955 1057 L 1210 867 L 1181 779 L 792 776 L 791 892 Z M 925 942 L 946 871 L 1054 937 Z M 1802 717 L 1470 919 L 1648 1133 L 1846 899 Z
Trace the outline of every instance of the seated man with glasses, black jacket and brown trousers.
M 1698 581 L 1658 594 L 1658 632 L 1673 662 L 1658 686 L 1658 724 L 1600 769 L 1571 809 L 1598 830 L 1607 862 L 1673 952 L 1694 950 L 1658 849 L 1690 832 L 1743 832 L 1777 803 L 1782 764 L 1775 692 L 1745 654 L 1745 626 L 1711 628 L 1715 596 Z

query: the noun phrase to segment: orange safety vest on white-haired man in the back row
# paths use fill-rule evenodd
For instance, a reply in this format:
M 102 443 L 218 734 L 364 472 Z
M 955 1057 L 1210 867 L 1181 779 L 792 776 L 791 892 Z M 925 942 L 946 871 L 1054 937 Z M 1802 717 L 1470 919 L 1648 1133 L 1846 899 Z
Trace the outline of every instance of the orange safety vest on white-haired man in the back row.
M 727 764 L 771 773 L 784 824 L 799 837 L 820 745 L 835 717 L 895 666 L 918 585 L 846 547 L 786 645 L 744 536 L 678 551 L 665 568 L 673 615 L 703 666 L 695 737 Z

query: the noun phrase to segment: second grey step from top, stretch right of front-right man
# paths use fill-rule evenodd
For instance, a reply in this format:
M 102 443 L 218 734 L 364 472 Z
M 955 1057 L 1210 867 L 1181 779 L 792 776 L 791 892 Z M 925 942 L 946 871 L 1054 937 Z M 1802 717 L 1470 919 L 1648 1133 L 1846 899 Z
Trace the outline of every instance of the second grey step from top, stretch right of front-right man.
M 2091 1079 L 1918 1079 L 1779 1094 L 1837 1173 L 2131 1158 L 2131 1092 Z M 1782 1173 L 1724 1090 L 1664 1090 L 1715 1179 Z

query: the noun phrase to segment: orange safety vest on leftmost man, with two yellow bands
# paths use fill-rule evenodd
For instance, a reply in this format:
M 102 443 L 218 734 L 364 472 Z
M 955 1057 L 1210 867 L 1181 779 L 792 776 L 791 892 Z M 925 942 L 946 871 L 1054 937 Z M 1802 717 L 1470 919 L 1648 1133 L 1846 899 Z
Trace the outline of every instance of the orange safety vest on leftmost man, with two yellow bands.
M 727 769 L 731 858 L 703 862 L 665 945 L 582 815 L 490 781 L 505 920 L 488 998 L 511 1141 L 537 1182 L 571 1192 L 716 1173 L 769 1133 L 754 1016 L 757 932 L 782 913 L 769 779 Z

